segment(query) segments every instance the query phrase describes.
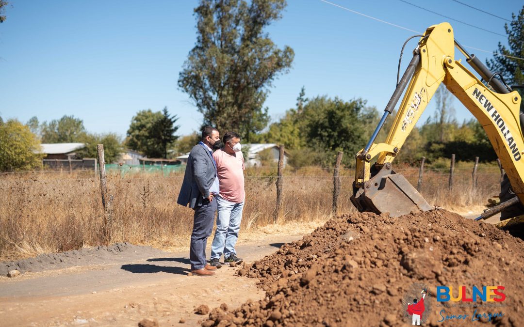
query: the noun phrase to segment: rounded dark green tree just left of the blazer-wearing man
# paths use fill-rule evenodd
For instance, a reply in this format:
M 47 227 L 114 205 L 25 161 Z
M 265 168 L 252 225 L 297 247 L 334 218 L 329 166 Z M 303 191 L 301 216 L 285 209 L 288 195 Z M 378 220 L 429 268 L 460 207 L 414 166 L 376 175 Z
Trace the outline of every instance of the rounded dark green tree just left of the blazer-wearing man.
M 148 157 L 167 157 L 167 149 L 177 136 L 176 116 L 169 116 L 167 108 L 153 112 L 151 109 L 138 111 L 127 130 L 126 145 Z

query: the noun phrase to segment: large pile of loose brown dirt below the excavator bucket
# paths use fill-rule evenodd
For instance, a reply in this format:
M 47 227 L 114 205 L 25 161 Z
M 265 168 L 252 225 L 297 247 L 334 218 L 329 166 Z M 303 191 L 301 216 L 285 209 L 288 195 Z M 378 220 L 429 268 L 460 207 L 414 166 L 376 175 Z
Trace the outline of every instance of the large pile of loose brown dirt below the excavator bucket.
M 411 322 L 402 299 L 412 284 L 421 283 L 430 291 L 426 324 L 487 322 L 488 313 L 503 312 L 491 323 L 516 326 L 524 319 L 523 259 L 522 240 L 444 210 L 400 218 L 344 215 L 245 265 L 238 274 L 259 278 L 266 298 L 234 311 L 213 309 L 202 325 L 396 326 L 403 319 Z M 479 300 L 478 308 L 472 302 L 437 302 L 436 286 L 441 285 L 452 286 L 454 297 L 461 286 L 471 297 L 474 285 L 481 290 L 501 285 L 506 299 Z M 504 307 L 487 307 L 493 304 Z M 467 316 L 445 320 L 453 314 Z

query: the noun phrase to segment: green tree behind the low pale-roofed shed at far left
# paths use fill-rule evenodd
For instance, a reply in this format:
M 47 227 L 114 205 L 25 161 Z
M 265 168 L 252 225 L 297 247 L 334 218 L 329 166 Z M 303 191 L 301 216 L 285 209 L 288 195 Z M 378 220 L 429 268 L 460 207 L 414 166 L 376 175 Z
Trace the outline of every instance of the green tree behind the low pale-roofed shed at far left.
M 82 119 L 67 115 L 58 120 L 53 119 L 49 123 L 45 121 L 40 128 L 42 143 L 80 142 L 86 133 Z

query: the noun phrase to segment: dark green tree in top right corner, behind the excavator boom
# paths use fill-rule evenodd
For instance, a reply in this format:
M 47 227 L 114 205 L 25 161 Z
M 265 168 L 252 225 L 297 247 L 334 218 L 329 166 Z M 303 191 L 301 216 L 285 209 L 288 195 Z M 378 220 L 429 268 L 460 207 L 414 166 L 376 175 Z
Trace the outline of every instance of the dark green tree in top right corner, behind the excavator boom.
M 492 72 L 500 72 L 507 83 L 513 85 L 524 84 L 524 6 L 519 14 L 511 14 L 510 25 L 506 23 L 504 28 L 508 35 L 508 47 L 498 43 L 498 50 L 493 52 L 493 59 L 486 63 Z M 505 57 L 511 56 L 511 57 Z

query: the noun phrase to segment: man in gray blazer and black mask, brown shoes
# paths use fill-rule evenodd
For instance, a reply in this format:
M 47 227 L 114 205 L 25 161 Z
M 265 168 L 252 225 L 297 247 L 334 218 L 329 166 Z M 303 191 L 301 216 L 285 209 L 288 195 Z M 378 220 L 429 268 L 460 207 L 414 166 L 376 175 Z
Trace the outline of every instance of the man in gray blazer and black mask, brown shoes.
M 216 270 L 216 267 L 206 263 L 205 246 L 213 230 L 216 211 L 214 197 L 220 192 L 212 149 L 220 148 L 222 142 L 219 131 L 211 126 L 204 127 L 201 141 L 189 153 L 177 200 L 179 205 L 185 207 L 189 204 L 195 211 L 189 260 L 191 273 L 198 276 L 212 276 L 215 274 L 213 270 Z

